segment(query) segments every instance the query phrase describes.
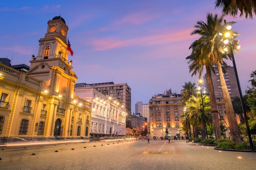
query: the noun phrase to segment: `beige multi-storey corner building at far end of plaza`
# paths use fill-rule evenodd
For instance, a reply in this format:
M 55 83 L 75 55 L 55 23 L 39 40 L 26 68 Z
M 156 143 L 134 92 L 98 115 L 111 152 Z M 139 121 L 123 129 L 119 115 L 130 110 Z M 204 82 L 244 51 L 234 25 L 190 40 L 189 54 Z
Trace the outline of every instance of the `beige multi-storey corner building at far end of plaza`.
M 182 111 L 181 95 L 172 94 L 171 89 L 164 94 L 153 96 L 149 100 L 151 137 L 165 137 L 166 128 L 172 136 L 182 136 L 180 134 Z

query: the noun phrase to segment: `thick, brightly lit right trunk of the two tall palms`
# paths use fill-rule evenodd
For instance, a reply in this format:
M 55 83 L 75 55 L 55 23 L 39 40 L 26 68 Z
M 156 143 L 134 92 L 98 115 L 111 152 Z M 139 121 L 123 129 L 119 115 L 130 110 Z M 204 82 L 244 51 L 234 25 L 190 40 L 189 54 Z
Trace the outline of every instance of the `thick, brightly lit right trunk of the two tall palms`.
M 226 114 L 227 114 L 227 120 L 229 122 L 229 129 L 231 133 L 231 137 L 234 143 L 240 144 L 242 143 L 241 138 L 240 138 L 240 133 L 238 129 L 238 124 L 236 122 L 236 115 L 234 112 L 234 108 L 232 105 L 232 101 L 229 95 L 229 91 L 227 89 L 227 85 L 225 82 L 225 78 L 223 76 L 222 72 L 222 67 L 221 64 L 217 64 L 219 76 L 220 76 L 220 85 L 221 85 L 221 91 L 222 91 L 222 96 L 225 102 L 225 109 L 226 109 Z

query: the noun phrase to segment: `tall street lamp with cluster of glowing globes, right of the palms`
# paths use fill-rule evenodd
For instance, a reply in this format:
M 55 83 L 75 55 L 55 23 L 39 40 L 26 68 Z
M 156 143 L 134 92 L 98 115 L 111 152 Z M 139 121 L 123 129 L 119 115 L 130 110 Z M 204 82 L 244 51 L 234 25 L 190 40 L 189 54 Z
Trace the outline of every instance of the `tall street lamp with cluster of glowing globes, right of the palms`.
M 227 22 L 226 20 L 224 20 L 224 24 L 226 25 Z M 246 124 L 246 128 L 247 128 L 247 133 L 248 133 L 248 137 L 249 137 L 249 142 L 250 142 L 250 146 L 251 146 L 251 149 L 252 149 L 252 152 L 254 152 L 254 146 L 253 146 L 253 143 L 252 143 L 252 136 L 251 136 L 251 132 L 250 132 L 250 128 L 249 128 L 249 123 L 248 123 L 248 119 L 247 119 L 247 114 L 246 114 L 246 110 L 245 110 L 245 102 L 243 100 L 243 94 L 242 94 L 242 90 L 241 90 L 241 87 L 240 87 L 240 82 L 239 82 L 239 78 L 238 78 L 238 73 L 237 73 L 237 70 L 236 70 L 236 62 L 235 62 L 235 58 L 234 58 L 234 52 L 233 52 L 233 48 L 235 47 L 236 50 L 239 50 L 241 48 L 241 46 L 238 45 L 238 42 L 236 44 L 233 44 L 233 41 L 234 41 L 234 38 L 233 38 L 233 35 L 230 35 L 229 33 L 229 30 L 231 30 L 231 26 L 227 26 L 227 30 L 228 32 L 226 32 L 224 34 L 225 36 L 225 40 L 223 41 L 224 44 L 227 44 L 227 47 L 229 47 L 229 50 L 230 50 L 230 55 L 231 55 L 231 59 L 232 59 L 232 62 L 233 62 L 233 66 L 234 66 L 234 71 L 235 71 L 235 75 L 236 75 L 236 82 L 237 82 L 237 85 L 238 85 L 238 90 L 239 90 L 239 94 L 240 94 L 240 100 L 241 100 L 241 104 L 242 104 L 242 110 L 243 110 L 243 113 L 244 113 L 244 116 L 245 116 L 245 124 Z M 222 35 L 221 33 L 219 33 L 219 35 Z M 235 34 L 234 36 L 236 36 L 237 34 Z M 236 46 L 234 46 L 236 45 Z M 225 47 L 223 50 L 225 52 L 228 51 L 228 48 Z

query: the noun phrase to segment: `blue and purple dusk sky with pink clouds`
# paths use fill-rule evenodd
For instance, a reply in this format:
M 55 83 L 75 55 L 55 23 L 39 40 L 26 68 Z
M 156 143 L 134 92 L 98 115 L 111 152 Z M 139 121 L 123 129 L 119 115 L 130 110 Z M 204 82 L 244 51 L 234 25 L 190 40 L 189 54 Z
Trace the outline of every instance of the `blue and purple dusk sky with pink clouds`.
M 47 22 L 61 15 L 69 31 L 76 83 L 127 83 L 135 103 L 171 89 L 180 94 L 191 77 L 186 57 L 197 21 L 206 22 L 207 13 L 218 13 L 215 0 L 14 0 L 0 4 L 0 58 L 12 65 L 30 65 L 37 54 Z M 256 70 L 256 16 L 226 16 L 235 21 L 242 49 L 235 53 L 243 94 L 250 74 Z M 227 61 L 232 66 L 232 61 Z M 203 73 L 205 74 L 205 73 Z

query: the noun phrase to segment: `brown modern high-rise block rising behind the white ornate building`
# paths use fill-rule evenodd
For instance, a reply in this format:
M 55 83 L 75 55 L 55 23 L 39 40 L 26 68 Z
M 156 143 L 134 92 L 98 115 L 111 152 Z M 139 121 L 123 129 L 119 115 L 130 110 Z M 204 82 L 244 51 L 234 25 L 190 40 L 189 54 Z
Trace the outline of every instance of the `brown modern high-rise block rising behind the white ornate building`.
M 126 109 L 126 127 L 131 127 L 131 88 L 126 83 L 114 84 L 108 83 L 77 83 L 75 89 L 96 89 L 101 94 L 118 100 L 120 105 Z

